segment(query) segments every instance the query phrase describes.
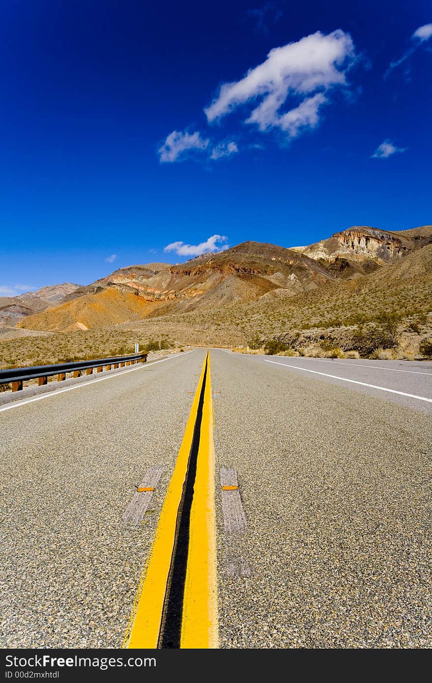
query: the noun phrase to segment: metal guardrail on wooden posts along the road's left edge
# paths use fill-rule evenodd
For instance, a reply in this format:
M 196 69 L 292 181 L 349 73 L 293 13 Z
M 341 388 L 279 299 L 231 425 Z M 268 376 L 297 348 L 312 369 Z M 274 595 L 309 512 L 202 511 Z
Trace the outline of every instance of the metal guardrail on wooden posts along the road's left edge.
M 115 358 L 100 358 L 96 361 L 76 361 L 73 363 L 56 363 L 55 365 L 33 365 L 30 367 L 12 367 L 10 370 L 0 370 L 0 384 L 12 382 L 12 391 L 20 391 L 23 389 L 23 382 L 26 380 L 39 380 L 39 386 L 42 387 L 48 383 L 48 377 L 57 375 L 57 381 L 61 382 L 66 379 L 66 373 L 72 372 L 74 377 L 80 377 L 81 372 L 86 371 L 87 375 L 91 375 L 93 367 L 96 367 L 96 372 L 102 372 L 105 366 L 106 370 L 111 370 L 111 367 L 124 367 L 125 365 L 134 365 L 147 361 L 146 353 L 135 353 L 132 356 L 117 356 Z

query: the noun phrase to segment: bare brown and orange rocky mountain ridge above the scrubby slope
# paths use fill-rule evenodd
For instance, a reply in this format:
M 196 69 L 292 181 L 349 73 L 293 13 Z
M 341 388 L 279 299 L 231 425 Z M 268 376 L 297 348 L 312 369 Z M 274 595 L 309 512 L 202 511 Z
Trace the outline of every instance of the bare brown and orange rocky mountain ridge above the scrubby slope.
M 19 326 L 43 331 L 93 329 L 253 302 L 277 311 L 284 301 L 298 297 L 328 298 L 331 292 L 344 291 L 338 287 L 341 283 L 358 281 L 363 287 L 378 274 L 385 281 L 390 266 L 426 253 L 431 244 L 431 226 L 400 232 L 351 227 L 316 245 L 291 249 L 243 242 L 183 264 L 119 268 L 76 288 L 60 305 L 27 316 Z M 391 282 L 392 288 L 398 287 L 397 281 Z

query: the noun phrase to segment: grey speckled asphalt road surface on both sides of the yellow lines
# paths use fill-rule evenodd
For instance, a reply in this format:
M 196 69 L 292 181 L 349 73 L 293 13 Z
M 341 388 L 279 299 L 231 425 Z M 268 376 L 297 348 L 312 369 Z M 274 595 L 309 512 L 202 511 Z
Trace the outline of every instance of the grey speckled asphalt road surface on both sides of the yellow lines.
M 0 406 L 2 647 L 121 646 L 204 357 Z M 210 370 L 220 647 L 431 647 L 432 403 L 412 396 L 432 398 L 432 363 L 212 350 Z

